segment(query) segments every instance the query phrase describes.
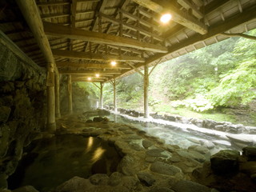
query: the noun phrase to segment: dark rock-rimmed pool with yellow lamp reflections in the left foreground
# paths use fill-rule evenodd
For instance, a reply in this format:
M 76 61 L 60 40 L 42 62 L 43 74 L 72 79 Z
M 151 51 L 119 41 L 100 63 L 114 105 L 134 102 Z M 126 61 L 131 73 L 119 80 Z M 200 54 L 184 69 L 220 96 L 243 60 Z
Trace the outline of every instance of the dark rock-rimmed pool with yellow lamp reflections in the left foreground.
M 32 142 L 25 152 L 8 179 L 10 190 L 30 185 L 39 191 L 50 191 L 74 176 L 111 174 L 121 160 L 107 142 L 70 134 Z

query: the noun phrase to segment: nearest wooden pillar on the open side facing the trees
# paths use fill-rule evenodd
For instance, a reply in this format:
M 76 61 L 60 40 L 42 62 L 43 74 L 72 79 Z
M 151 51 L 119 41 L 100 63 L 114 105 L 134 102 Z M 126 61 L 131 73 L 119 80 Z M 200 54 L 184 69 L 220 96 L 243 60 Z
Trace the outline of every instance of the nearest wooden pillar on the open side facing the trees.
M 149 118 L 149 67 L 144 66 L 144 118 Z

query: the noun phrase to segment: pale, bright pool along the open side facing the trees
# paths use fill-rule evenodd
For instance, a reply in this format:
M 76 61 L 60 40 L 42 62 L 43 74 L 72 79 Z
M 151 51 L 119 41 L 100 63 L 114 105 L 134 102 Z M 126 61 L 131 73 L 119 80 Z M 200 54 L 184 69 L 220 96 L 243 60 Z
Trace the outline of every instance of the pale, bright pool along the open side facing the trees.
M 193 145 L 209 146 L 209 142 L 214 143 L 210 148 L 210 153 L 215 154 L 219 150 L 242 150 L 239 146 L 234 146 L 226 138 L 226 133 L 217 130 L 199 128 L 191 124 L 178 122 L 168 122 L 160 119 L 132 118 L 122 114 L 110 114 L 107 116 L 111 121 L 134 126 L 138 130 L 144 130 L 147 134 L 162 138 L 166 144 L 178 145 L 187 149 Z

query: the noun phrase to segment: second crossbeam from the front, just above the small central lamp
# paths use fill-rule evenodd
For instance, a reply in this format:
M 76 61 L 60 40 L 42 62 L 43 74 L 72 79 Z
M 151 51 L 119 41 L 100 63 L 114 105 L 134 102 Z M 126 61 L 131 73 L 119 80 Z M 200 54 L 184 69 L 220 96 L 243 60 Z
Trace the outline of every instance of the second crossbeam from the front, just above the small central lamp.
M 56 58 L 78 58 L 87 60 L 96 60 L 103 62 L 117 61 L 117 62 L 145 62 L 144 58 L 126 56 L 126 55 L 110 55 L 110 54 L 92 54 L 88 52 L 74 51 L 74 50 L 52 50 Z

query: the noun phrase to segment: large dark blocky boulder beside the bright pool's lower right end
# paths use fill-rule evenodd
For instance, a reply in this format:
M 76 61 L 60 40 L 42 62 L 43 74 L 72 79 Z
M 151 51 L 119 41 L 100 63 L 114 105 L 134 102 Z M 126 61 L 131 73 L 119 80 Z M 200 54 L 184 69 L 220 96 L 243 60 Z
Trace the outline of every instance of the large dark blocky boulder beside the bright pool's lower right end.
M 214 174 L 230 174 L 238 171 L 239 151 L 220 150 L 210 158 L 210 167 Z

